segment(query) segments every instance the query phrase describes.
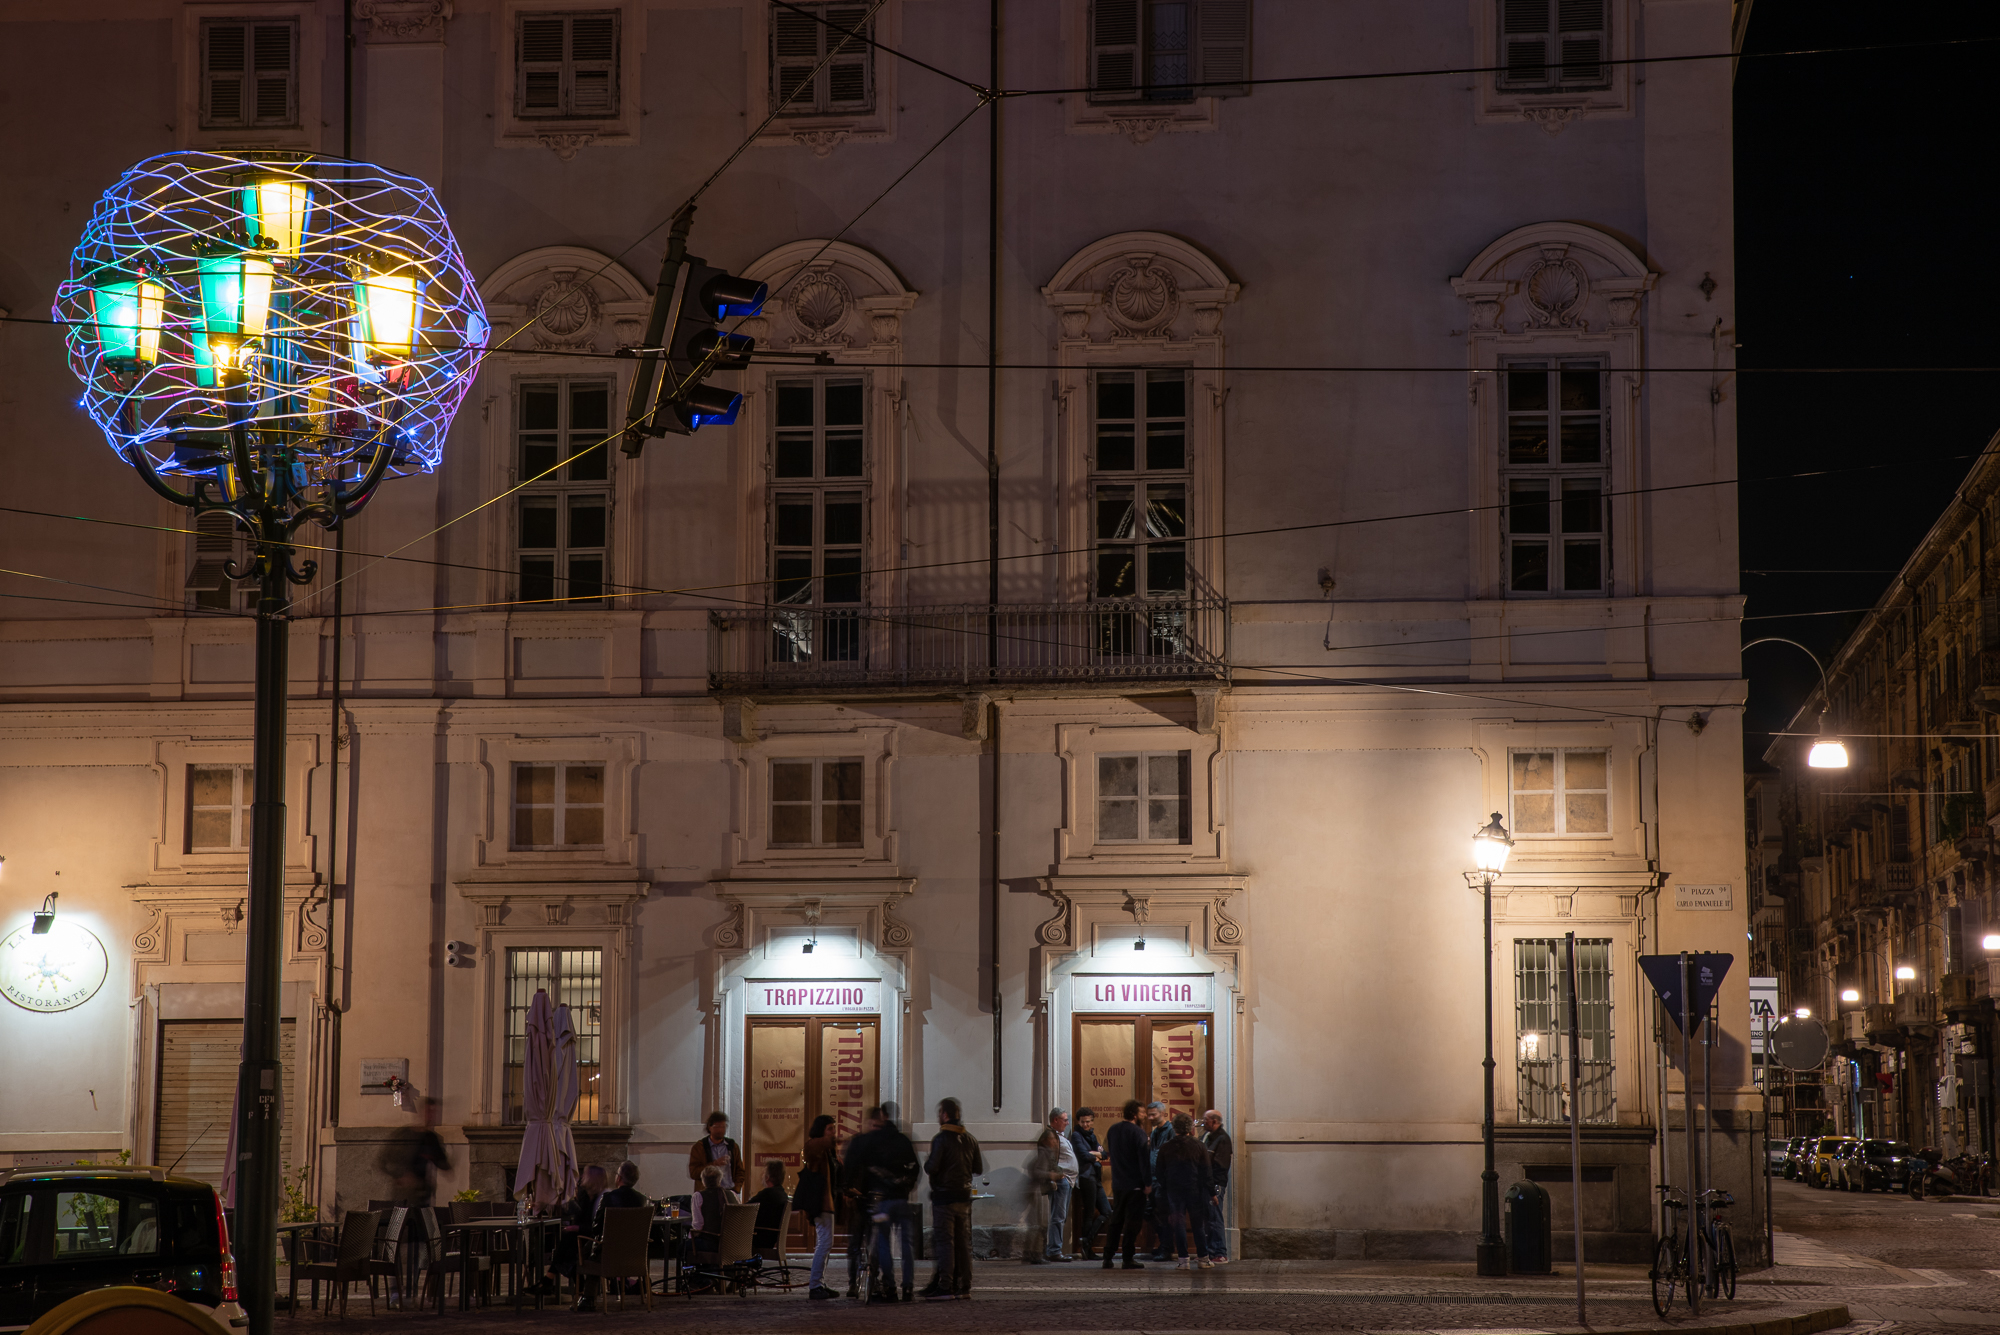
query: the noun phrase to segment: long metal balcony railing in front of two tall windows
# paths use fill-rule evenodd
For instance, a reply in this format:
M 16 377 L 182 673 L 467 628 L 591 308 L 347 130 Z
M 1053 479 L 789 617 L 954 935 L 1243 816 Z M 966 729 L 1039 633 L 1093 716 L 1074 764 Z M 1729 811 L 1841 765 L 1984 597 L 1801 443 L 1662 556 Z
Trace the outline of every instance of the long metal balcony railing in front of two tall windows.
M 1222 598 L 938 608 L 744 608 L 708 614 L 712 689 L 1216 681 Z

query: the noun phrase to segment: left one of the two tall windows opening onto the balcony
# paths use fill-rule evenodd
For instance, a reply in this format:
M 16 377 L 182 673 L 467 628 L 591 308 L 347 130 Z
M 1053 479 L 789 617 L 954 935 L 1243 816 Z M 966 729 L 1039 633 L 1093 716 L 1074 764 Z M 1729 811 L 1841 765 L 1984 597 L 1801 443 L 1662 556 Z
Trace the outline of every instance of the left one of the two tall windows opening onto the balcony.
M 868 386 L 850 378 L 780 380 L 772 414 L 770 600 L 780 608 L 862 602 L 868 532 Z M 780 616 L 772 660 L 850 664 L 858 616 Z

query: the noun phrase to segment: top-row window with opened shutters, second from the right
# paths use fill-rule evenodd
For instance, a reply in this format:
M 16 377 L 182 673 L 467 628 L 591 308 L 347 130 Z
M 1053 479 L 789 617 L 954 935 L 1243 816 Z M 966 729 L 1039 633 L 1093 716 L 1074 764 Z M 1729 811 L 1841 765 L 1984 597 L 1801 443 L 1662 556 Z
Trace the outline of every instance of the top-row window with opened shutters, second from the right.
M 1092 0 L 1090 100 L 1250 92 L 1250 0 Z

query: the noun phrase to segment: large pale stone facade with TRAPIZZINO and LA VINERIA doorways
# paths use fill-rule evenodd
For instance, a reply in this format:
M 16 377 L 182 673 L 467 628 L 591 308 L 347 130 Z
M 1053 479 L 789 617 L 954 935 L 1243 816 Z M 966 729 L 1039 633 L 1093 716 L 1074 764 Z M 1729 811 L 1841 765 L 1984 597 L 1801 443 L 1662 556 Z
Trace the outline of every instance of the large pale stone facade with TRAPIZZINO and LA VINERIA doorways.
M 1046 1111 L 1154 1095 L 1236 1135 L 1246 1255 L 1466 1255 L 1500 811 L 1502 1181 L 1566 1209 L 1574 931 L 1590 1247 L 1644 1259 L 1682 1093 L 1636 957 L 1744 931 L 1730 62 L 1672 58 L 1748 6 L 1000 8 L 1006 86 L 1068 92 L 1004 100 L 992 164 L 994 112 L 950 134 L 976 92 L 890 50 L 982 82 L 954 0 L 884 0 L 882 50 L 818 74 L 828 30 L 750 0 L 356 0 L 346 100 L 326 0 L 4 20 L 22 104 L 72 108 L 0 146 L 14 316 L 130 162 L 340 152 L 352 118 L 438 188 L 504 340 L 442 468 L 348 534 L 338 640 L 328 568 L 294 608 L 288 1163 L 380 1195 L 406 1079 L 452 1185 L 502 1191 L 550 987 L 586 1153 L 658 1193 L 710 1109 L 782 1157 L 814 1109 L 924 1131 L 956 1095 L 1006 1247 Z M 1484 72 L 1254 82 L 1426 68 Z M 732 428 L 594 452 L 656 224 L 752 130 L 692 250 L 770 284 L 744 332 L 784 356 Z M 252 626 L 60 338 L 0 346 L 8 931 L 60 889 L 106 953 L 92 999 L 0 1007 L 44 1073 L 0 1083 L 0 1151 L 202 1167 Z M 1744 1009 L 1738 965 L 1720 1185 L 1754 1165 Z

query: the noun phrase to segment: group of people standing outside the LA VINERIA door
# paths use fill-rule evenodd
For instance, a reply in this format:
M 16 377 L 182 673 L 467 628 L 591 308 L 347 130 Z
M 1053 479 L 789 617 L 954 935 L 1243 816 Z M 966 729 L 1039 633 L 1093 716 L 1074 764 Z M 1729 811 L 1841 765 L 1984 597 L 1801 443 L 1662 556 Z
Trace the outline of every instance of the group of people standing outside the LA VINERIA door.
M 1140 1105 L 1126 1099 L 1120 1119 L 1098 1141 L 1096 1111 L 1048 1113 L 1028 1163 L 1030 1229 L 1022 1261 L 1096 1261 L 1098 1227 L 1104 1227 L 1104 1269 L 1116 1263 L 1120 1241 L 1124 1269 L 1144 1269 L 1136 1259 L 1140 1233 L 1150 1229 L 1152 1259 L 1176 1269 L 1228 1265 L 1228 1235 L 1222 1197 L 1230 1185 L 1236 1143 L 1222 1129 L 1222 1113 L 1202 1113 L 1200 1129 L 1190 1113 L 1170 1113 L 1164 1103 Z M 1104 1175 L 1116 1203 L 1106 1199 Z M 1064 1251 L 1064 1233 L 1074 1207 L 1076 1227 Z M 1046 1223 L 1044 1223 L 1046 1219 Z M 1036 1231 L 1042 1229 L 1042 1237 Z

